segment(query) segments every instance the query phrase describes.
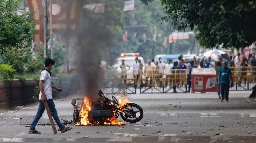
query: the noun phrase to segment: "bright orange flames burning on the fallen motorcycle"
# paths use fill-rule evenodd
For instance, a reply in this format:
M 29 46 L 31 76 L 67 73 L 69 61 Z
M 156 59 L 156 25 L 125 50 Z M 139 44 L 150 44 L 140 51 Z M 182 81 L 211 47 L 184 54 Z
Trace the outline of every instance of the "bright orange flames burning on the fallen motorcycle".
M 124 95 L 118 95 L 117 99 L 119 101 L 119 104 L 117 106 L 118 112 L 123 112 L 123 109 L 125 106 L 130 103 L 129 99 L 124 96 Z M 89 112 L 93 109 L 93 104 L 90 102 L 90 100 L 85 97 L 83 100 L 84 105 L 81 107 L 80 111 L 80 123 L 77 123 L 76 125 L 99 125 L 99 121 L 95 121 L 90 118 Z M 111 101 L 110 105 L 114 106 L 115 104 Z M 116 110 L 112 110 L 112 116 L 110 118 L 106 118 L 104 125 L 123 125 L 123 122 L 118 121 L 117 118 L 115 117 L 116 115 Z

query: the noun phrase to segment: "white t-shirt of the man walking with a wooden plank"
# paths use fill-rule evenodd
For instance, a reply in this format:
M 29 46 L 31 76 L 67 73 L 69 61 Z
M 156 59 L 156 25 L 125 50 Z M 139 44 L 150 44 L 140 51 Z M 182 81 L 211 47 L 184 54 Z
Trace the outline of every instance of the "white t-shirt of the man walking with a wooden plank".
M 51 75 L 48 73 L 48 71 L 43 70 L 41 72 L 40 81 L 44 81 L 42 84 L 42 87 L 44 87 L 44 91 L 46 94 L 46 99 L 52 99 L 52 81 L 51 81 Z M 42 99 L 42 93 L 40 91 L 39 99 Z

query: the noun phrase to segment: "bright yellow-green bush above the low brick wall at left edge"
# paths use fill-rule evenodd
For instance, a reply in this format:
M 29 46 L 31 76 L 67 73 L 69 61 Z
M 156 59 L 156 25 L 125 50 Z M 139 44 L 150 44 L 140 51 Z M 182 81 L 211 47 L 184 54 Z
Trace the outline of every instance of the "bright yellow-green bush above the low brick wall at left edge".
M 0 64 L 0 80 L 13 78 L 15 69 L 9 64 Z

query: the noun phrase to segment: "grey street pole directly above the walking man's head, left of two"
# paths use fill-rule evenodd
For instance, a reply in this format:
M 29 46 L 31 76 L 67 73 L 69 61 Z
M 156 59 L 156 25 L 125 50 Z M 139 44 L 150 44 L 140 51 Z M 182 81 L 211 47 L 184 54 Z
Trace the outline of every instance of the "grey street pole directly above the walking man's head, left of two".
M 44 12 L 44 58 L 47 57 L 47 0 L 44 0 L 45 12 Z

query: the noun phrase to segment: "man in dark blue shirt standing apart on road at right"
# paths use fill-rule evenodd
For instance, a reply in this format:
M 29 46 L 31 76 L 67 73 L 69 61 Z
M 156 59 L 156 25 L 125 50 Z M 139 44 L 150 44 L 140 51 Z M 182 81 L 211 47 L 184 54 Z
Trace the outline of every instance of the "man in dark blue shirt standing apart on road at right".
M 226 62 L 222 62 L 222 67 L 219 70 L 219 84 L 221 84 L 221 102 L 226 99 L 228 103 L 229 84 L 231 80 L 231 87 L 233 86 L 233 78 L 231 69 L 227 67 Z

